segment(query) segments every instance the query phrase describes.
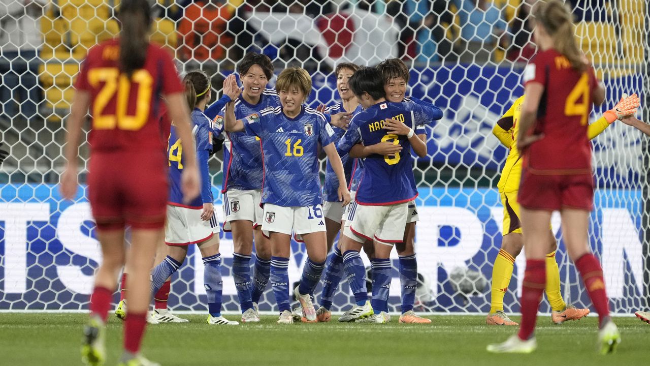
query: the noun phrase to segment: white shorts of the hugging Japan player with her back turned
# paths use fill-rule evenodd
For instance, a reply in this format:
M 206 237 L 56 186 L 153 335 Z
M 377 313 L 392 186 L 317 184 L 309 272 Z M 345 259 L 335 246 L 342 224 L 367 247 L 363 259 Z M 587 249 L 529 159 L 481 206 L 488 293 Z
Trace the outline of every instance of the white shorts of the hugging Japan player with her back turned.
M 376 240 L 393 245 L 404 241 L 404 229 L 408 216 L 408 203 L 390 206 L 366 206 L 354 203 L 352 225 L 343 229 L 343 234 L 356 242 Z

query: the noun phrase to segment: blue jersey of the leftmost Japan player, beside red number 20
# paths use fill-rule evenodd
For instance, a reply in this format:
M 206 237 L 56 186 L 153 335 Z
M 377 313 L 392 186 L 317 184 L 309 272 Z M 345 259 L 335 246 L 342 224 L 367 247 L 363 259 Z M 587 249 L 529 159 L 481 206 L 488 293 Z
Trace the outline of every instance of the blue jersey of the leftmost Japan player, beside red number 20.
M 208 170 L 208 158 L 212 150 L 212 134 L 214 131 L 213 122 L 203 114 L 203 112 L 194 108 L 192 111 L 192 135 L 196 141 L 196 160 L 201 173 L 201 195 L 196 197 L 190 203 L 183 203 L 183 192 L 181 191 L 181 173 L 183 172 L 183 146 L 176 133 L 176 127 L 172 122 L 172 128 L 167 143 L 167 156 L 169 163 L 169 199 L 168 203 L 173 206 L 183 206 L 188 208 L 203 208 L 203 203 L 212 203 L 212 182 Z

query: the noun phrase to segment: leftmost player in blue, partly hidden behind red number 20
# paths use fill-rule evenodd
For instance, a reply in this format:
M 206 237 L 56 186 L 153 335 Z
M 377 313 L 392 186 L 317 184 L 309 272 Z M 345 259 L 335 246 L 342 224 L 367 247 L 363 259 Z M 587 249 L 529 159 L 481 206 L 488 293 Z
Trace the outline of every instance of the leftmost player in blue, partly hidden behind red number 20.
M 196 244 L 201 251 L 205 270 L 203 281 L 207 292 L 208 324 L 237 325 L 221 315 L 223 282 L 221 279 L 221 255 L 219 253 L 219 224 L 214 214 L 212 182 L 208 171 L 208 158 L 212 150 L 213 122 L 203 114 L 205 103 L 211 96 L 209 77 L 200 70 L 187 73 L 183 79 L 187 103 L 192 108 L 192 134 L 196 139 L 196 157 L 201 172 L 201 195 L 190 203 L 183 202 L 181 193 L 181 172 L 183 171 L 183 146 L 177 137 L 174 121 L 168 143 L 169 201 L 165 227 L 167 257 L 151 271 L 151 294 L 155 294 L 164 281 L 176 272 L 187 256 L 190 244 Z M 224 82 L 224 98 L 218 104 L 225 104 L 237 98 L 239 87 L 235 76 Z

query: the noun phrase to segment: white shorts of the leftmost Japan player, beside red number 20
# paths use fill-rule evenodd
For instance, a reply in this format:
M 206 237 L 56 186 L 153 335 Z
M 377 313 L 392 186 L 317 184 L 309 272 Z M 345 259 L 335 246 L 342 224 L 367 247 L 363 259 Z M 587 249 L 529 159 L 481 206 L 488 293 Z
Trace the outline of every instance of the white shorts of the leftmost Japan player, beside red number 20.
M 167 205 L 164 241 L 168 246 L 188 246 L 205 242 L 214 234 L 219 234 L 216 214 L 203 221 L 201 209 Z

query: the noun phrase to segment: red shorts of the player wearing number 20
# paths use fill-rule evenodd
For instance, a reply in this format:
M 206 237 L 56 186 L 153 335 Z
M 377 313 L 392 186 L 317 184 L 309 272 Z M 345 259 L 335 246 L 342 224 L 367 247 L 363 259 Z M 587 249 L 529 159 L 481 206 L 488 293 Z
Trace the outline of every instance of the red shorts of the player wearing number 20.
M 88 165 L 88 201 L 98 230 L 162 229 L 167 197 L 162 152 L 93 152 Z

